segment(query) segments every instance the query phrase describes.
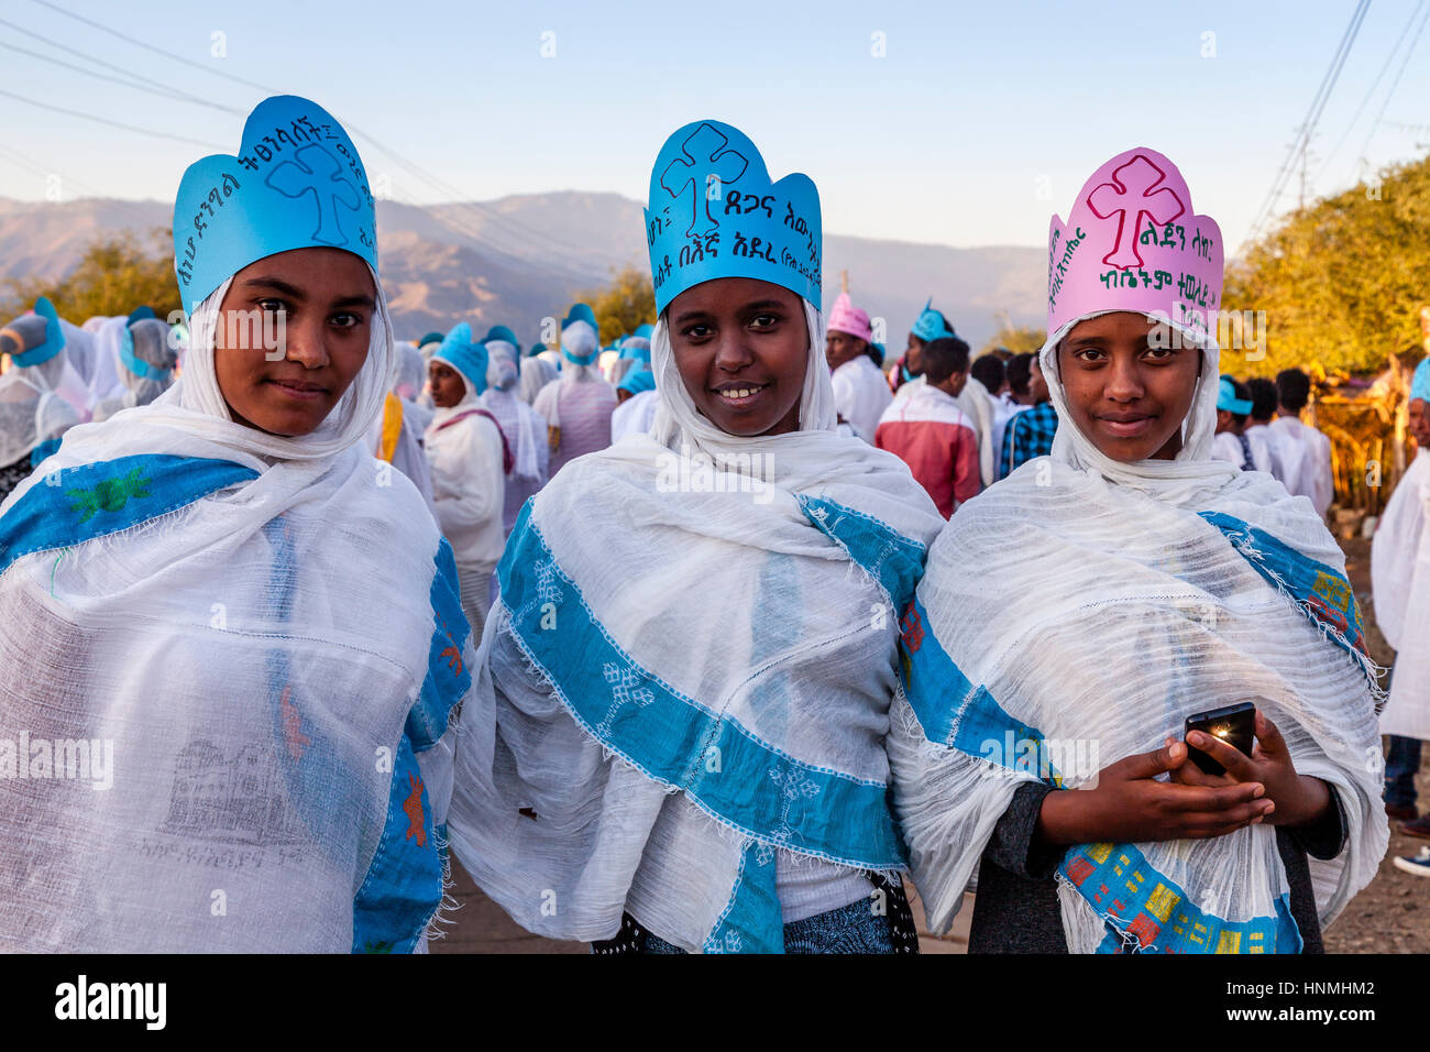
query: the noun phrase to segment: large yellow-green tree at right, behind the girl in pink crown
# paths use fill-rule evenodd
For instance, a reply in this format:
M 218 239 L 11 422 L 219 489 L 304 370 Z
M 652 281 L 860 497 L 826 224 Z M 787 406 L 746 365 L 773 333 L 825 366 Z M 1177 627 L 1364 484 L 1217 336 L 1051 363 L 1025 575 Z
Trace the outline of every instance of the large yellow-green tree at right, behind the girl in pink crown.
M 1290 213 L 1227 268 L 1223 306 L 1266 312 L 1266 356 L 1230 372 L 1379 372 L 1420 356 L 1430 302 L 1430 157 Z

